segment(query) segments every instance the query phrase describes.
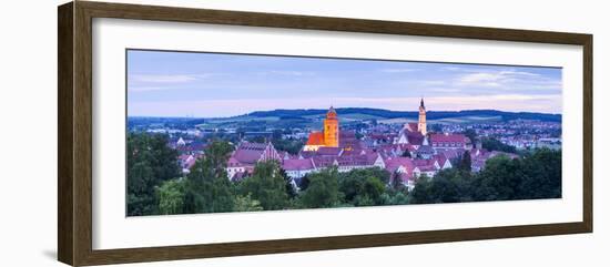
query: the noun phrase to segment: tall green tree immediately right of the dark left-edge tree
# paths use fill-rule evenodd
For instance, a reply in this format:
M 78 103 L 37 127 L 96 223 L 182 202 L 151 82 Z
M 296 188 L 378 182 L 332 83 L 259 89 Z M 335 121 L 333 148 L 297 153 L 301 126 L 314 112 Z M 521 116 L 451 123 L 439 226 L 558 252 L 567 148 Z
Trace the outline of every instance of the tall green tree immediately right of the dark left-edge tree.
M 205 156 L 195 162 L 186 178 L 185 213 L 233 210 L 234 188 L 226 174 L 232 150 L 227 142 L 214 141 L 205 150 Z

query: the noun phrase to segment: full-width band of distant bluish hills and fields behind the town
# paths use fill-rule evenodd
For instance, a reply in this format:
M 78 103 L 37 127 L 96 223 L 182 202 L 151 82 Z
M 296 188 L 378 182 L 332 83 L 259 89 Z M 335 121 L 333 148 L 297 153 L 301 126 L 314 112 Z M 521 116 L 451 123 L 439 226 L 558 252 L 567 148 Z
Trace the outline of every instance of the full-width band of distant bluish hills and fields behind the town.
M 368 107 L 336 109 L 342 125 L 358 124 L 375 120 L 379 123 L 404 124 L 416 122 L 418 112 L 388 111 Z M 271 129 L 319 129 L 327 110 L 274 110 L 256 111 L 232 117 L 128 117 L 130 130 L 150 127 L 171 127 L 187 130 L 194 126 L 202 130 L 245 129 L 247 131 L 264 131 Z M 504 112 L 496 110 L 471 111 L 428 111 L 426 119 L 429 124 L 455 123 L 497 123 L 511 120 L 538 120 L 543 122 L 561 122 L 560 114 L 535 112 Z

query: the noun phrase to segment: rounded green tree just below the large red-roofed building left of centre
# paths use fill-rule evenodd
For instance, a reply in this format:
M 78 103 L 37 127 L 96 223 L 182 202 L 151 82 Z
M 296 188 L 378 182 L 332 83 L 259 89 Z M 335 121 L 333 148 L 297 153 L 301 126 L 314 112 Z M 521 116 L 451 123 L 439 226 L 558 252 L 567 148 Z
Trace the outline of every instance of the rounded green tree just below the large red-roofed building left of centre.
M 252 195 L 265 210 L 283 209 L 288 204 L 286 182 L 276 161 L 256 163 L 252 177 L 240 185 L 242 195 Z

